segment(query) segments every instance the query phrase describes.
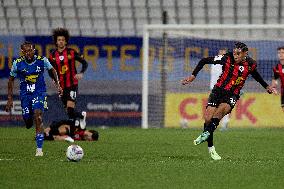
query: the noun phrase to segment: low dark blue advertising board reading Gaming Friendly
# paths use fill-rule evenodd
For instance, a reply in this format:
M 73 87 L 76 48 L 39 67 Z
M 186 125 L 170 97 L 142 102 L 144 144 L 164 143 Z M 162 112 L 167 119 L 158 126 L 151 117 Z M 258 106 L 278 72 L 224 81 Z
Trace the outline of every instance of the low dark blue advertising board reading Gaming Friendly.
M 80 95 L 78 111 L 87 112 L 88 126 L 141 126 L 141 95 Z M 0 95 L 0 126 L 24 125 L 19 96 L 14 96 L 11 113 L 4 111 L 6 96 Z M 52 121 L 67 119 L 57 95 L 48 96 L 48 111 L 44 113 L 45 126 Z

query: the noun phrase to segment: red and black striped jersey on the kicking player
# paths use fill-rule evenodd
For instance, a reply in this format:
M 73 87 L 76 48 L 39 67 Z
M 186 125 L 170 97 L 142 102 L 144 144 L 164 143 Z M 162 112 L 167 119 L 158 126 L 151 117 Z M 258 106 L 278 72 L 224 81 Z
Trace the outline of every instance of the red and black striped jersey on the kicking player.
M 264 88 L 268 86 L 257 72 L 256 61 L 250 57 L 246 57 L 245 61 L 238 64 L 234 60 L 233 53 L 203 58 L 194 69 L 192 75 L 196 76 L 205 64 L 222 65 L 222 73 L 214 87 L 224 89 L 232 92 L 233 94 L 239 95 L 240 90 L 243 88 L 245 81 L 250 74 Z

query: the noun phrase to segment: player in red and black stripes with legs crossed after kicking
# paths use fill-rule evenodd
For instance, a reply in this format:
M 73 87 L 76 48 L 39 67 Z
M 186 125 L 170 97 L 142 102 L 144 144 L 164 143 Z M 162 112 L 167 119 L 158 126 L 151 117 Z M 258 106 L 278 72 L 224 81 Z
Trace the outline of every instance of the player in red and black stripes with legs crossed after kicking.
M 220 120 L 234 108 L 247 77 L 251 75 L 269 94 L 277 94 L 277 91 L 272 86 L 268 86 L 260 76 L 256 69 L 256 61 L 248 56 L 248 47 L 244 43 L 235 43 L 232 53 L 201 59 L 192 75 L 183 79 L 182 84 L 191 83 L 205 64 L 221 64 L 222 73 L 209 95 L 204 115 L 204 131 L 194 140 L 194 144 L 207 141 L 211 158 L 220 160 L 221 157 L 213 145 L 213 133 Z

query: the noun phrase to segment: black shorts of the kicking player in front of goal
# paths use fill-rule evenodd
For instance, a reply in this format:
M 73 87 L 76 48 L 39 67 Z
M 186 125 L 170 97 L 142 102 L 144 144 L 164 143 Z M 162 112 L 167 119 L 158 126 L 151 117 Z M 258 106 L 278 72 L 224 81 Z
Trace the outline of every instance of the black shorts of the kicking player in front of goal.
M 208 106 L 218 107 L 221 103 L 227 103 L 233 109 L 240 96 L 220 88 L 213 88 L 208 98 Z

